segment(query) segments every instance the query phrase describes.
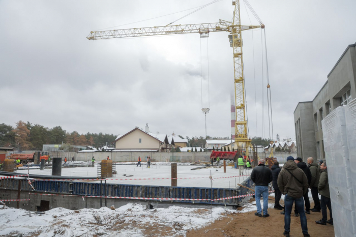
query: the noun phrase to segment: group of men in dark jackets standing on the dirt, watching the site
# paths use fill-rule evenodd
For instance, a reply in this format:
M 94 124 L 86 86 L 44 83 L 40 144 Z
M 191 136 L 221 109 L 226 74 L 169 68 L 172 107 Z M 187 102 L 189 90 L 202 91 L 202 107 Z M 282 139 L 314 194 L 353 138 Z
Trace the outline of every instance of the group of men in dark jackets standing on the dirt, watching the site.
M 333 215 L 331 209 L 329 181 L 327 164 L 320 160 L 320 166 L 314 163 L 314 159 L 309 157 L 306 164 L 302 158 L 287 157 L 283 168 L 279 167 L 276 161 L 271 169 L 264 165 L 264 160 L 258 161 L 251 173 L 251 180 L 255 183 L 255 199 L 257 212 L 256 216 L 269 217 L 268 214 L 268 196 L 269 184 L 275 190 L 274 209 L 283 210 L 284 214 L 284 232 L 289 236 L 290 232 L 290 214 L 294 203 L 294 216 L 300 216 L 301 227 L 304 236 L 310 236 L 308 233 L 307 218 L 305 214 L 312 212 L 322 212 L 322 219 L 315 221 L 316 224 L 333 225 Z M 310 209 L 308 197 L 309 189 L 311 190 L 314 208 Z M 284 195 L 284 207 L 280 205 L 280 199 Z M 318 193 L 321 195 L 319 201 Z M 260 204 L 260 198 L 263 197 L 263 215 Z M 305 204 L 305 209 L 304 209 Z M 330 220 L 327 219 L 327 207 L 330 212 Z

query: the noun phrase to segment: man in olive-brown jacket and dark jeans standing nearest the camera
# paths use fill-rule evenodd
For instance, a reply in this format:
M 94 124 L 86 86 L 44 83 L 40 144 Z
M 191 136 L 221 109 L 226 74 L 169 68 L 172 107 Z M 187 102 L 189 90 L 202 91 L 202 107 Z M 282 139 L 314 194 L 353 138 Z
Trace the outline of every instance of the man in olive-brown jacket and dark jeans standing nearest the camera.
M 294 163 L 294 158 L 287 157 L 287 162 L 278 175 L 278 188 L 285 195 L 284 197 L 284 236 L 289 236 L 290 231 L 290 213 L 293 203 L 301 218 L 302 232 L 304 236 L 310 236 L 308 233 L 307 217 L 304 212 L 303 195 L 308 191 L 308 179 L 304 171 Z

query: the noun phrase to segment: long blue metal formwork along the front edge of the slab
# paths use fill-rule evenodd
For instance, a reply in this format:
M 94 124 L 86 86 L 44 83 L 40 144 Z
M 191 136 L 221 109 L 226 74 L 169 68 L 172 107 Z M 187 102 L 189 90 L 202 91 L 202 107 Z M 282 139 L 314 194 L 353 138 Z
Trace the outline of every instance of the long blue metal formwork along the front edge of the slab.
M 243 185 L 252 186 L 248 178 Z M 212 204 L 238 204 L 241 198 L 211 201 L 218 199 L 247 194 L 248 190 L 243 187 L 233 188 L 200 188 L 200 187 L 170 187 L 150 185 L 126 185 L 87 183 L 75 181 L 42 181 L 32 182 L 35 192 L 68 194 L 81 196 L 111 196 L 111 197 L 139 197 L 139 198 L 183 198 L 183 199 L 209 199 L 209 200 L 162 200 L 187 203 L 212 203 Z M 9 179 L 0 181 L 0 189 L 18 190 L 18 180 Z M 21 182 L 21 191 L 32 191 L 27 182 Z M 105 193 L 106 192 L 106 193 Z

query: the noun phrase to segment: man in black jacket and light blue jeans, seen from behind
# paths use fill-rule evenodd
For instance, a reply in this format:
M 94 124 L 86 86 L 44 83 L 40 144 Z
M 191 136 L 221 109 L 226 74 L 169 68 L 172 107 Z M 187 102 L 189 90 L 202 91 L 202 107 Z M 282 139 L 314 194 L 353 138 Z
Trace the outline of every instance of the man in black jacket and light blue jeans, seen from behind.
M 268 209 L 268 185 L 273 180 L 272 171 L 268 167 L 264 166 L 264 160 L 258 161 L 258 166 L 253 168 L 251 172 L 251 180 L 255 183 L 255 199 L 257 212 L 255 216 L 269 217 L 267 213 Z M 263 216 L 261 215 L 261 194 L 263 197 Z

